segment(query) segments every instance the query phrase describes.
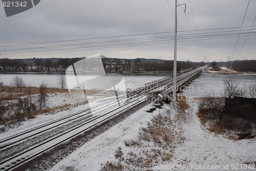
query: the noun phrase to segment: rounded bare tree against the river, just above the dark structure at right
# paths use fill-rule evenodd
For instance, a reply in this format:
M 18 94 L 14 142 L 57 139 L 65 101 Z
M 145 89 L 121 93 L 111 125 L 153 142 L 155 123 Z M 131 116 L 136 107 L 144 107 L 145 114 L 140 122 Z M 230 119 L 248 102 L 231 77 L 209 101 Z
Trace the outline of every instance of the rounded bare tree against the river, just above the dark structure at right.
M 232 75 L 228 75 L 223 79 L 224 82 L 224 96 L 228 98 L 232 98 L 236 95 L 239 82 L 234 79 Z

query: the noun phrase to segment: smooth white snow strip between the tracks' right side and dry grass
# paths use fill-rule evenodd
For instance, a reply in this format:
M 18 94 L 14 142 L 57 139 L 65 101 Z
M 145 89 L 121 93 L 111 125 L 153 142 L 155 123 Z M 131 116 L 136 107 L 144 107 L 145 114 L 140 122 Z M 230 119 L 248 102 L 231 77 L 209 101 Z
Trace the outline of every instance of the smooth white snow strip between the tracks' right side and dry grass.
M 101 164 L 115 160 L 117 147 L 125 148 L 124 140 L 138 136 L 141 127 L 146 126 L 157 111 L 147 113 L 149 106 L 137 111 L 108 131 L 87 142 L 74 151 L 69 157 L 57 163 L 51 170 L 99 170 Z

